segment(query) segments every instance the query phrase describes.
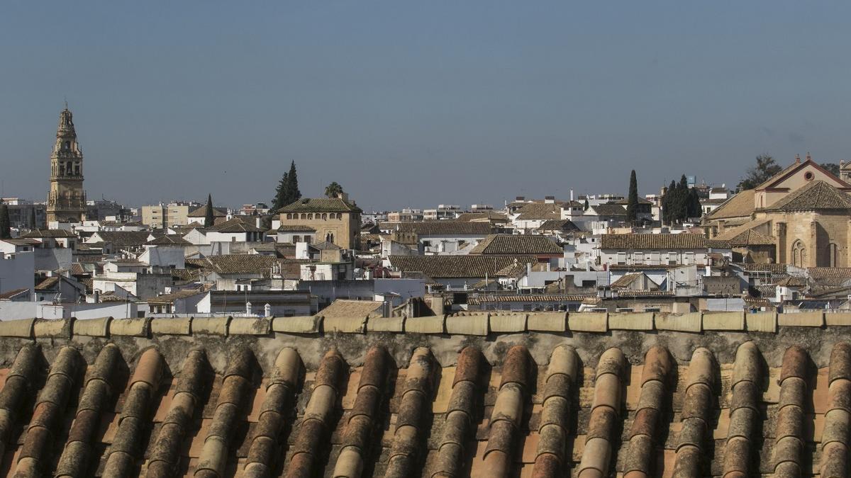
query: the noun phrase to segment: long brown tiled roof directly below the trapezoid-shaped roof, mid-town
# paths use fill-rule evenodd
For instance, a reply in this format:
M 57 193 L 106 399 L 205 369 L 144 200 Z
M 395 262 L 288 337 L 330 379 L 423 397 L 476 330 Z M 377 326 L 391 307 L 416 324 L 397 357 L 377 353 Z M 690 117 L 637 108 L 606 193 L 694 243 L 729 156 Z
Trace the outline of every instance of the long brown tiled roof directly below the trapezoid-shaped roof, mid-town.
M 506 266 L 537 262 L 534 256 L 390 256 L 391 266 L 403 272 L 422 272 L 432 279 L 494 276 Z

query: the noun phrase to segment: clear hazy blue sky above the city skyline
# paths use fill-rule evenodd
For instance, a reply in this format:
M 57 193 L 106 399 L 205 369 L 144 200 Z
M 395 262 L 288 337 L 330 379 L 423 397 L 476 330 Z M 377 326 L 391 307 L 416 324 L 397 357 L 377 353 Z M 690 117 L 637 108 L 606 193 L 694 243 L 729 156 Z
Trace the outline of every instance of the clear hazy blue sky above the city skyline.
M 0 180 L 43 200 L 67 97 L 90 198 L 363 208 L 733 184 L 851 158 L 848 2 L 0 6 Z

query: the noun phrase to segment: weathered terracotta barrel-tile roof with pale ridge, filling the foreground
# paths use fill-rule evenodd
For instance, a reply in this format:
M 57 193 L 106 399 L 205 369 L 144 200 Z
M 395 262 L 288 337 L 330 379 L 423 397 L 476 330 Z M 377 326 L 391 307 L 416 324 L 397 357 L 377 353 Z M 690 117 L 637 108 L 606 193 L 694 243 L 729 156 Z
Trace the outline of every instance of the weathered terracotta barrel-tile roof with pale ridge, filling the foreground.
M 840 324 L 851 316 L 0 322 L 0 473 L 846 477 Z

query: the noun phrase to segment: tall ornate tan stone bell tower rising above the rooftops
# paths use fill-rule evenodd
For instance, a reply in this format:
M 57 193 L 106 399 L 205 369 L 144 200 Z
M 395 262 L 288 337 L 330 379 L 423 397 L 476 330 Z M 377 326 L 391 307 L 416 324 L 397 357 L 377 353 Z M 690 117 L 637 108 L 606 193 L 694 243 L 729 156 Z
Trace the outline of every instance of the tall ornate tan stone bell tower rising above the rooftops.
M 83 191 L 83 150 L 68 105 L 59 116 L 56 143 L 50 154 L 50 194 L 47 220 L 80 222 L 86 212 Z

